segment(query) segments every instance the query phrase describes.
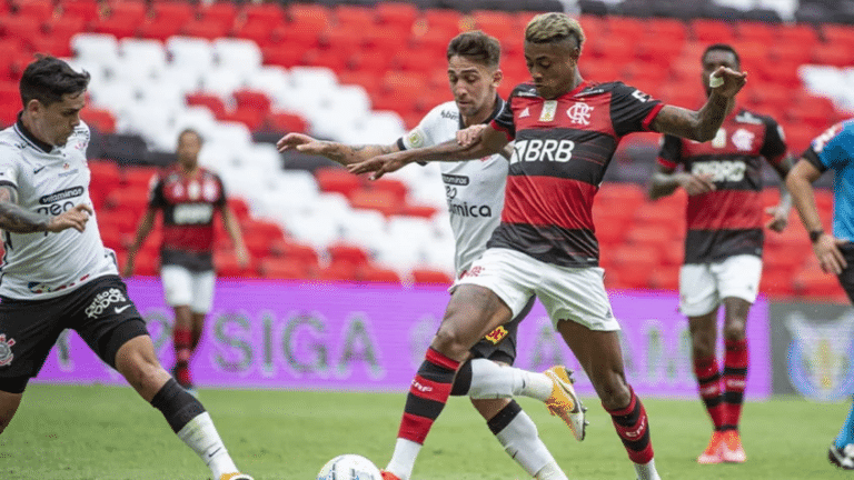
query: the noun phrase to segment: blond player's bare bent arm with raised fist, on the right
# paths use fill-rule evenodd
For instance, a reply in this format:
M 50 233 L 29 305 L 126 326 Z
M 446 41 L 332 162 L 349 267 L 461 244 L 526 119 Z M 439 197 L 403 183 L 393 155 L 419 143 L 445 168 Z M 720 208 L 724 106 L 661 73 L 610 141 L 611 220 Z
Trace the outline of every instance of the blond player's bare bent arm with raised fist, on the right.
M 661 133 L 669 133 L 696 141 L 715 138 L 726 118 L 727 106 L 747 81 L 746 72 L 721 67 L 712 73 L 712 94 L 697 111 L 665 106 L 649 126 Z

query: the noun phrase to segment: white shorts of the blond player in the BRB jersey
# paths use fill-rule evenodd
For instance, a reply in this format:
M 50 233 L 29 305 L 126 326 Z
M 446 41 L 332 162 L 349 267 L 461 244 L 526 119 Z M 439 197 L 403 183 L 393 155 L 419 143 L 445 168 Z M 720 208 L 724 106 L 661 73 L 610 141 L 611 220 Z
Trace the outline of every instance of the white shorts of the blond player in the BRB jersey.
M 530 296 L 537 296 L 552 324 L 572 320 L 590 330 L 619 330 L 598 267 L 569 268 L 542 262 L 525 253 L 491 248 L 475 260 L 468 272 L 454 283 L 488 288 L 519 314 Z

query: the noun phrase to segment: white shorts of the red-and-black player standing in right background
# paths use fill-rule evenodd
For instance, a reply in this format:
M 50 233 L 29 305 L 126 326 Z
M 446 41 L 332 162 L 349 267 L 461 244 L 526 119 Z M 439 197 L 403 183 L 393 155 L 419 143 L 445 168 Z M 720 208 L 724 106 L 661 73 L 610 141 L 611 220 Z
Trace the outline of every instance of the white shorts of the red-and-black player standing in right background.
M 727 297 L 756 301 L 762 259 L 752 254 L 729 257 L 719 263 L 688 263 L 679 270 L 679 311 L 699 317 L 715 310 Z

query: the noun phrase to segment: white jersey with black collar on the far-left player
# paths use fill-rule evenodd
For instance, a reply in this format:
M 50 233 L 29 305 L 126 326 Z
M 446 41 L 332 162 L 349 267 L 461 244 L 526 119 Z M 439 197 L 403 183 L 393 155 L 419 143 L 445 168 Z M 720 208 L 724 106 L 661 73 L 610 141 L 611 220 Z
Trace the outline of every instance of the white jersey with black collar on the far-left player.
M 18 190 L 18 204 L 56 217 L 80 204 L 92 206 L 86 161 L 89 127 L 80 123 L 62 147 L 34 138 L 19 120 L 0 131 L 0 184 Z M 0 296 L 42 300 L 106 274 L 118 274 L 116 256 L 103 247 L 92 216 L 83 232 L 3 232 Z

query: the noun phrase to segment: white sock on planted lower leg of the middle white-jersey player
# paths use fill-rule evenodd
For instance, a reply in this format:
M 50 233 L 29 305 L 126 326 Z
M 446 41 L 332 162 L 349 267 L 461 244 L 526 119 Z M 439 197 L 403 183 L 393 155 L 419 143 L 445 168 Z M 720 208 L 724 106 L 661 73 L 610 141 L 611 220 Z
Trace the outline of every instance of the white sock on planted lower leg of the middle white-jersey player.
M 520 411 L 507 423 L 507 427 L 495 434 L 512 459 L 525 469 L 530 477 L 540 480 L 567 480 L 557 467 L 555 458 L 539 439 L 537 426 L 527 413 Z M 543 472 L 544 477 L 540 477 Z

